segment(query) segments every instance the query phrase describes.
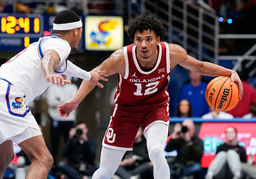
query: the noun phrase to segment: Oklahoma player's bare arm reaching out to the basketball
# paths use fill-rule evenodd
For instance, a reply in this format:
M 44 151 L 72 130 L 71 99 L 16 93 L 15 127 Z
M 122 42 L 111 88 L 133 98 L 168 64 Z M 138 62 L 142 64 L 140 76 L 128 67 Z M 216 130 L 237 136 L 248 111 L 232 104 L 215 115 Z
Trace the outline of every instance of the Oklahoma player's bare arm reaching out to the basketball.
M 224 68 L 223 66 L 209 63 L 206 61 L 199 61 L 192 56 L 187 55 L 185 49 L 176 44 L 169 44 L 170 49 L 170 66 L 179 64 L 184 68 L 187 68 L 193 72 L 200 73 L 201 75 L 207 76 L 225 76 L 231 78 L 231 85 L 237 82 L 239 86 L 239 98 L 242 99 L 243 84 L 234 70 Z M 174 66 L 173 66 L 174 67 Z

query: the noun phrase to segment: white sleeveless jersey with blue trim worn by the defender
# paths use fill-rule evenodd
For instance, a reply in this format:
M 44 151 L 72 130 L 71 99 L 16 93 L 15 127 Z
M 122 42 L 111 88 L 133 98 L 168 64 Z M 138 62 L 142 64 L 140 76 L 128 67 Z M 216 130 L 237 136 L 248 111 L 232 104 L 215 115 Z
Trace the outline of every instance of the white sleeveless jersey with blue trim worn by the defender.
M 40 38 L 0 67 L 0 78 L 24 92 L 29 102 L 52 85 L 45 80 L 41 67 L 43 54 L 48 49 L 54 49 L 61 59 L 55 65 L 54 72 L 64 73 L 71 47 L 67 41 L 55 35 Z

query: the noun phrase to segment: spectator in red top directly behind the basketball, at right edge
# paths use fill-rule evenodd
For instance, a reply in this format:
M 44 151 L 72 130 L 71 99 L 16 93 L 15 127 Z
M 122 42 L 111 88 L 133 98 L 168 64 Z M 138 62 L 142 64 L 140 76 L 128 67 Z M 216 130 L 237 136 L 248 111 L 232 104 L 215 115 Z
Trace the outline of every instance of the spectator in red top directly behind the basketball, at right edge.
M 239 77 L 243 84 L 243 97 L 235 106 L 227 113 L 232 114 L 234 117 L 243 117 L 250 113 L 250 106 L 256 104 L 256 89 L 249 84 L 249 76 L 247 72 L 240 72 Z

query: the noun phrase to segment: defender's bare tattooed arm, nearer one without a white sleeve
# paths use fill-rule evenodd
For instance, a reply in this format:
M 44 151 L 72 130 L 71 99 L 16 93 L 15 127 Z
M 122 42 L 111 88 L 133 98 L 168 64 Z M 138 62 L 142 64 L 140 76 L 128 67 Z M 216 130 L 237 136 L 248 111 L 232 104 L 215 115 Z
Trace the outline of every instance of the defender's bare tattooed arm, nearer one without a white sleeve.
M 54 66 L 57 65 L 59 61 L 60 57 L 54 49 L 45 51 L 41 62 L 43 75 L 45 76 L 47 82 L 57 84 L 58 86 L 70 84 L 71 81 L 64 80 L 61 75 L 54 74 Z

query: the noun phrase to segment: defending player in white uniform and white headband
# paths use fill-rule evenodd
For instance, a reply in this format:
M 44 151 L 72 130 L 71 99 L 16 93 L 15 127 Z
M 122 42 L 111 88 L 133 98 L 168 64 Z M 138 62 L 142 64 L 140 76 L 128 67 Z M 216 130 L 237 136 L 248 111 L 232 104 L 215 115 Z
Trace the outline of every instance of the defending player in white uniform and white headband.
M 50 85 L 70 84 L 61 74 L 79 77 L 103 87 L 105 72 L 86 72 L 67 60 L 83 31 L 78 15 L 64 10 L 56 15 L 54 34 L 40 38 L 0 67 L 0 179 L 14 152 L 12 141 L 26 153 L 31 165 L 26 179 L 45 179 L 53 159 L 28 103 Z

